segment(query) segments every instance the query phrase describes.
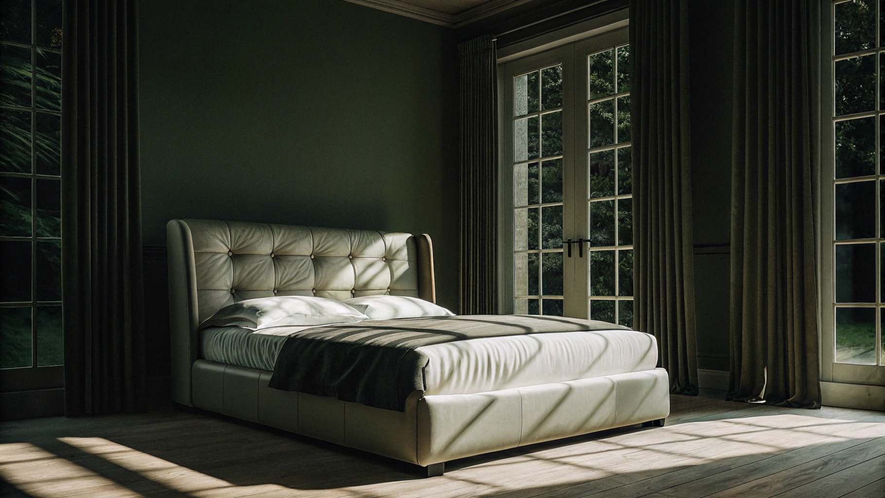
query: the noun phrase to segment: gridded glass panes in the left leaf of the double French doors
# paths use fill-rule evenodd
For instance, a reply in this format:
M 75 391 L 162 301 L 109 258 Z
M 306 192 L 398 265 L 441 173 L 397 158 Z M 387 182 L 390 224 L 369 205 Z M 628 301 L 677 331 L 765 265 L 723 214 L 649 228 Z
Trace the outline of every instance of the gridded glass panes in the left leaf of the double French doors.
M 514 310 L 562 316 L 562 65 L 513 78 Z

